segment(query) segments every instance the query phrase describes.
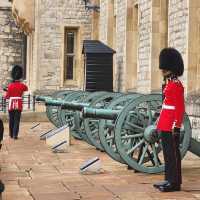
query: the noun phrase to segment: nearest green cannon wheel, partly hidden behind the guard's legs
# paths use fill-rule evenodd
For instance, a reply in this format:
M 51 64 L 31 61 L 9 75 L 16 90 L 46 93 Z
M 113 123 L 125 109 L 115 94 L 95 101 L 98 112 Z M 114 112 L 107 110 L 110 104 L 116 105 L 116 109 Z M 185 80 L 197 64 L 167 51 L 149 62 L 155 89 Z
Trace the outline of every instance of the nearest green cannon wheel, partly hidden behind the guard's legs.
M 145 173 L 164 171 L 160 140 L 154 136 L 156 113 L 161 109 L 161 95 L 141 96 L 130 102 L 119 114 L 115 142 L 122 159 L 133 169 Z M 186 154 L 191 138 L 191 125 L 185 114 L 181 129 L 180 152 Z

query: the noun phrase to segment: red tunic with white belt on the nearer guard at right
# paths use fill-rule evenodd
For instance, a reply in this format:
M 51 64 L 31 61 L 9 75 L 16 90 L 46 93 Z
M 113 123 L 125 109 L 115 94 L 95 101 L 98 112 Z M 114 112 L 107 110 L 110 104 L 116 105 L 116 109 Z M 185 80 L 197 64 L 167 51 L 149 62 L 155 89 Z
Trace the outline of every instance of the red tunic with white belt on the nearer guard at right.
M 164 101 L 157 123 L 160 131 L 172 131 L 174 127 L 180 128 L 183 122 L 185 104 L 184 88 L 178 79 L 169 80 L 164 90 Z

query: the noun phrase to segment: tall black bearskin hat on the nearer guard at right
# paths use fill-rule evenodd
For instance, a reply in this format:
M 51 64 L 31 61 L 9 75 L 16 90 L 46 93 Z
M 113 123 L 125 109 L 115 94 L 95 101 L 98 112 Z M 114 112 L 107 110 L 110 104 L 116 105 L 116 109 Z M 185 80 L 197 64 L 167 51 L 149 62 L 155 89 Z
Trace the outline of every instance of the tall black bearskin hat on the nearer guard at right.
M 159 68 L 171 71 L 176 76 L 182 76 L 184 63 L 181 54 L 174 48 L 164 48 L 159 56 Z

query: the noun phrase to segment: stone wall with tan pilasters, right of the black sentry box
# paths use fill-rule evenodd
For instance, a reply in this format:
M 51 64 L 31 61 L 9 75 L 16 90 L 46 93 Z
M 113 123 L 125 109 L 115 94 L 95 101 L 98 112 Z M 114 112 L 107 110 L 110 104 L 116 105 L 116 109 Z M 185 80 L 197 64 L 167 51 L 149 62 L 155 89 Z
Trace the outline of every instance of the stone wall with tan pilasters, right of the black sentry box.
M 158 55 L 175 47 L 184 57 L 186 94 L 199 92 L 200 1 L 101 0 L 99 39 L 116 50 L 115 88 L 160 89 Z

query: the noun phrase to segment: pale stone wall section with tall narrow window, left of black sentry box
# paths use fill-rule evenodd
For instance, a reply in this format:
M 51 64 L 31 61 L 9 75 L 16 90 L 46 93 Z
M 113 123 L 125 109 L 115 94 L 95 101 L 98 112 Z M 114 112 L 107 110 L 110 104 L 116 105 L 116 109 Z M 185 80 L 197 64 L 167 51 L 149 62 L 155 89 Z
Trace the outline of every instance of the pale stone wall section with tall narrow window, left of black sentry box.
M 27 32 L 26 81 L 30 90 L 42 93 L 62 88 L 82 89 L 82 45 L 83 40 L 91 39 L 92 32 L 92 16 L 85 10 L 84 1 L 28 3 L 26 6 L 27 1 L 14 0 L 12 10 L 21 27 L 24 22 L 32 24 L 33 31 Z

